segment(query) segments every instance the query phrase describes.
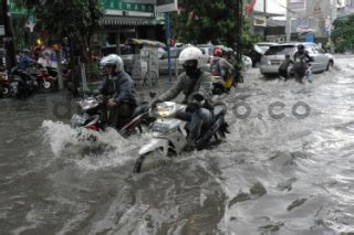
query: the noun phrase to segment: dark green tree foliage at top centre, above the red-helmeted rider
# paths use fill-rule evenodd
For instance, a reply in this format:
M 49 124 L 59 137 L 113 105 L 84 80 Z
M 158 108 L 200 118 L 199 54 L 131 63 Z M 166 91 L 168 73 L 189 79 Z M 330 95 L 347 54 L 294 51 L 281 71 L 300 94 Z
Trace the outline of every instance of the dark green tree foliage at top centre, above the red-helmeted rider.
M 237 13 L 235 0 L 179 0 L 179 14 L 174 13 L 171 24 L 175 26 L 177 39 L 185 43 L 223 44 L 235 47 L 237 32 Z M 242 44 L 244 50 L 259 36 L 250 34 L 250 20 L 244 19 L 242 28 Z

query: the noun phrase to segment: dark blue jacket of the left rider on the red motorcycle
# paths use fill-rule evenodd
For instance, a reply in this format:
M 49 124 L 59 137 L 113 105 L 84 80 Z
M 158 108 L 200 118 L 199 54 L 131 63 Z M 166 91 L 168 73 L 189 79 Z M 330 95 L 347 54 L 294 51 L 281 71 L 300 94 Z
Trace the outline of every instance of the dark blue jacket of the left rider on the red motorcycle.
M 110 96 L 115 103 L 137 106 L 136 92 L 132 77 L 121 71 L 111 79 L 105 78 L 100 87 L 100 93 Z

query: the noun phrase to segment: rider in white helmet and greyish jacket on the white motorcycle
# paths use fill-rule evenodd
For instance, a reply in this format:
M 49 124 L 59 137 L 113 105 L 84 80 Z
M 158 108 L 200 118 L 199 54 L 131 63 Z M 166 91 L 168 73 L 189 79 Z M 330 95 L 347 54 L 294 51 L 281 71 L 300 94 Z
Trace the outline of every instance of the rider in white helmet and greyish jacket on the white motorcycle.
M 202 53 L 197 47 L 190 46 L 183 50 L 178 61 L 183 64 L 185 72 L 179 75 L 171 88 L 153 103 L 153 107 L 157 103 L 176 98 L 183 92 L 185 95 L 183 103 L 187 104 L 187 109 L 178 113 L 177 118 L 188 121 L 187 141 L 190 146 L 195 146 L 201 128 L 212 122 L 212 77 L 209 72 L 201 71 Z

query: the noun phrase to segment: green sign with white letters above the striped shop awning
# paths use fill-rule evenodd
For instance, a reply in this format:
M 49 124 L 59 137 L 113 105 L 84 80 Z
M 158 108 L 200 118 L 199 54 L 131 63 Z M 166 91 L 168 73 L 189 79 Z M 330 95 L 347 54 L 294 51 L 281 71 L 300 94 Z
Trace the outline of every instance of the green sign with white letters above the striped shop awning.
M 140 11 L 154 13 L 154 4 L 123 2 L 122 0 L 102 0 L 106 10 Z

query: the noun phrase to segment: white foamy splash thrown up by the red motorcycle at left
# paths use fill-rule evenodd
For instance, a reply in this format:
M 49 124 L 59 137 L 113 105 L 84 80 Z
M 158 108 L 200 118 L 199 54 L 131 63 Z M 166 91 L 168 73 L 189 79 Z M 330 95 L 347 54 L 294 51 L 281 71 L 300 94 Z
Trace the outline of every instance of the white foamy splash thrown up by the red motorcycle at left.
M 79 131 L 69 125 L 51 120 L 44 120 L 42 128 L 56 158 L 71 160 L 86 170 L 124 165 L 128 161 L 135 161 L 138 148 L 149 139 L 148 133 L 125 139 L 112 128 L 105 132 L 81 129 L 79 136 Z M 94 136 L 97 140 L 88 141 L 88 136 Z

